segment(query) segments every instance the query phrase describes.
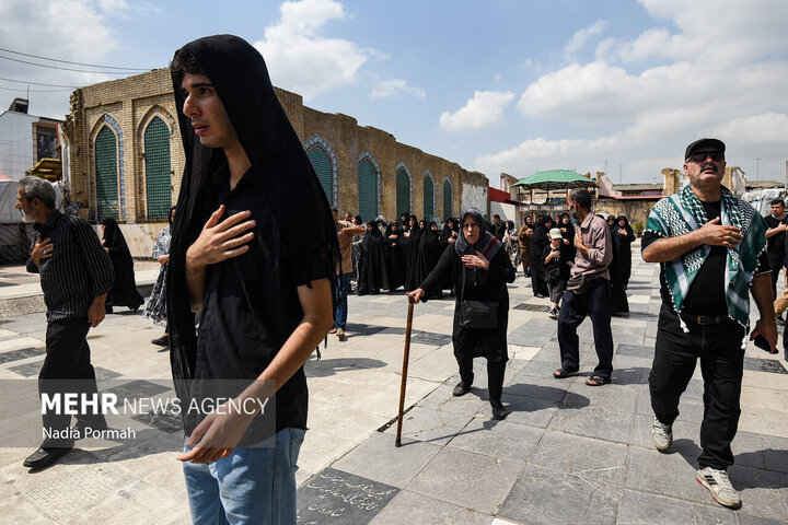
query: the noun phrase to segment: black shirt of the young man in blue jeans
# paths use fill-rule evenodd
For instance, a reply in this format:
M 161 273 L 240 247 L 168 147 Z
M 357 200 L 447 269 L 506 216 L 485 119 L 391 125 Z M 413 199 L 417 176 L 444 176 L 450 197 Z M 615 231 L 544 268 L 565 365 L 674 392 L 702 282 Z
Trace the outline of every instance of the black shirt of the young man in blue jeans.
M 195 380 L 252 381 L 270 364 L 303 318 L 297 288 L 329 278 L 333 269 L 317 253 L 308 268 L 291 267 L 277 228 L 277 220 L 283 218 L 274 217 L 253 174 L 247 172 L 232 190 L 227 172 L 215 182 L 219 187 L 216 208 L 224 205 L 225 217 L 250 210 L 256 225 L 248 252 L 206 270 Z M 297 282 L 301 278 L 306 281 Z M 276 394 L 277 431 L 306 428 L 308 397 L 306 377 L 300 368 Z

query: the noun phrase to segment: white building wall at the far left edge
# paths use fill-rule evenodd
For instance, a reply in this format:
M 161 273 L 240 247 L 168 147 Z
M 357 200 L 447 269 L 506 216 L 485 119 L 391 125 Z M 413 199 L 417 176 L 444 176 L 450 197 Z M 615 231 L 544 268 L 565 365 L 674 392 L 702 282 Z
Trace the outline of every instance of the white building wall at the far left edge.
M 33 122 L 36 121 L 38 117 L 24 113 L 5 112 L 0 115 L 0 173 L 14 180 L 24 177 L 35 164 Z

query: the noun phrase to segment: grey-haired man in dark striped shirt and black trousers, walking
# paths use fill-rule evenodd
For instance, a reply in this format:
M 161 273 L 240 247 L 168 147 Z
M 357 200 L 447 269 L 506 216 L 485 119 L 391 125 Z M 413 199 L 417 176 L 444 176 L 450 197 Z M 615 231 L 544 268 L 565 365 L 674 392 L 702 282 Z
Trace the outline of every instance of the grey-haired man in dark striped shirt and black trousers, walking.
M 104 300 L 115 275 L 109 256 L 95 232 L 82 219 L 55 209 L 55 190 L 38 177 L 19 182 L 16 209 L 38 235 L 31 246 L 27 271 L 40 275 L 47 306 L 46 358 L 38 374 L 42 394 L 62 394 L 61 380 L 76 380 L 85 394 L 97 392 L 85 337 L 104 319 Z M 106 429 L 103 416 L 79 416 L 74 432 L 71 416 L 44 413 L 44 443 L 24 460 L 24 466 L 43 468 L 73 447 L 73 436 L 86 429 Z

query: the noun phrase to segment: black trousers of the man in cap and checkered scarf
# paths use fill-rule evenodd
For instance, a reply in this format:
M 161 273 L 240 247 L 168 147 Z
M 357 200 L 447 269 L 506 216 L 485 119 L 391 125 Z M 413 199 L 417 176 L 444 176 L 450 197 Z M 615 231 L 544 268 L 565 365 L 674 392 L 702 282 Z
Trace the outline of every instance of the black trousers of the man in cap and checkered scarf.
M 688 332 L 681 328 L 675 312 L 662 305 L 649 375 L 651 408 L 662 423 L 673 423 L 679 417 L 679 399 L 700 358 L 704 419 L 698 465 L 726 470 L 733 465 L 730 444 L 741 415 L 739 398 L 744 372 L 741 347 L 746 331 L 732 319 L 715 325 L 685 324 Z

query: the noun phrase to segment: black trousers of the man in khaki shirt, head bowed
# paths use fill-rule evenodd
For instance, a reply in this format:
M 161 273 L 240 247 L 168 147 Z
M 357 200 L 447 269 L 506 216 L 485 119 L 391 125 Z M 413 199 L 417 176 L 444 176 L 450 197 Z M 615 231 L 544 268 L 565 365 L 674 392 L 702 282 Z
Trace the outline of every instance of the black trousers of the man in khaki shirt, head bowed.
M 607 279 L 600 277 L 592 280 L 586 293 L 564 292 L 564 301 L 558 314 L 561 366 L 573 370 L 580 368 L 580 339 L 577 327 L 582 324 L 586 316 L 591 317 L 599 358 L 594 375 L 610 377 L 613 373 L 613 332 L 610 325 L 611 285 Z

